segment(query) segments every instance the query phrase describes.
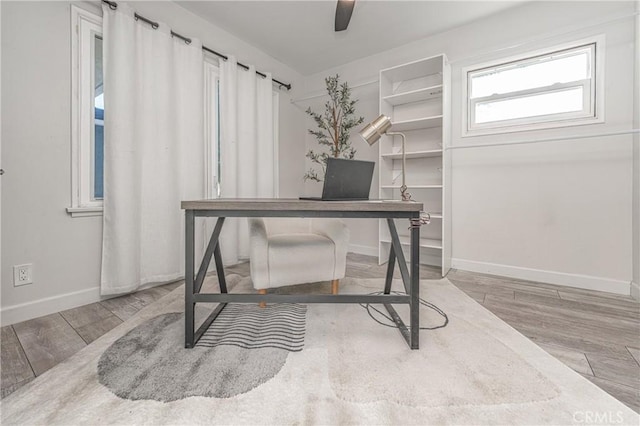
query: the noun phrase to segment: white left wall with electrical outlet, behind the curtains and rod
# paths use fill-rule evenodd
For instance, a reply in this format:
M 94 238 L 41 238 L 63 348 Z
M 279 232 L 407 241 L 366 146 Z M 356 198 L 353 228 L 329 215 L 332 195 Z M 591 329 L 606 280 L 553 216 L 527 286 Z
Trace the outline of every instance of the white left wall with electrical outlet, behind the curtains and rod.
M 71 218 L 70 2 L 0 2 L 2 8 L 1 320 L 9 324 L 99 300 L 102 218 Z M 95 3 L 79 3 L 95 9 Z M 302 184 L 302 113 L 289 102 L 300 75 L 174 3 L 136 2 L 143 16 L 234 54 L 290 82 L 280 95 L 280 193 Z M 34 264 L 34 283 L 14 287 L 12 266 Z

